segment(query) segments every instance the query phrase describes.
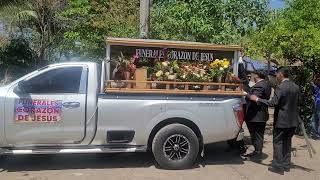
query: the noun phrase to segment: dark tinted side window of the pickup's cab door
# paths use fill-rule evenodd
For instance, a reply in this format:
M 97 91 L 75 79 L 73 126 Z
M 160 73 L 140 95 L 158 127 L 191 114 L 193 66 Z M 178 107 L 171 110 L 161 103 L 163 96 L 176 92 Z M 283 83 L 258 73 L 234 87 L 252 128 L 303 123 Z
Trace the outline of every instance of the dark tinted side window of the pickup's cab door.
M 57 68 L 27 80 L 23 89 L 27 93 L 79 93 L 82 67 Z M 83 87 L 83 86 L 81 86 Z

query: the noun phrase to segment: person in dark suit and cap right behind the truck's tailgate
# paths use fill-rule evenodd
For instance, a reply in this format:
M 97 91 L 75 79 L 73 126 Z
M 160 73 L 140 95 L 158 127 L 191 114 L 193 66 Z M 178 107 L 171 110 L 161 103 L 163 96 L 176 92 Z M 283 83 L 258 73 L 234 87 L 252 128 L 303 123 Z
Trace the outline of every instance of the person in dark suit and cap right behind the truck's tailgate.
M 266 80 L 267 73 L 263 70 L 257 70 L 252 74 L 255 85 L 250 88 L 249 94 L 256 95 L 261 99 L 270 99 L 271 86 Z M 266 122 L 269 119 L 268 106 L 262 103 L 250 101 L 247 97 L 247 108 L 245 120 L 250 132 L 251 141 L 254 146 L 254 152 L 248 154 L 253 160 L 261 160 Z

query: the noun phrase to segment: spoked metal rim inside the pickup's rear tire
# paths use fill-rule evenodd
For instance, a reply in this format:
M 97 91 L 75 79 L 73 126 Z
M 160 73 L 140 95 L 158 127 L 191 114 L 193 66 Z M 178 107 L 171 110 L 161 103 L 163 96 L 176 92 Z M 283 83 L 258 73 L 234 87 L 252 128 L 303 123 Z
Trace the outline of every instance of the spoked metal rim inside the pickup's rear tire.
M 181 160 L 185 158 L 190 151 L 189 140 L 180 134 L 174 134 L 167 138 L 163 145 L 163 153 L 170 160 Z

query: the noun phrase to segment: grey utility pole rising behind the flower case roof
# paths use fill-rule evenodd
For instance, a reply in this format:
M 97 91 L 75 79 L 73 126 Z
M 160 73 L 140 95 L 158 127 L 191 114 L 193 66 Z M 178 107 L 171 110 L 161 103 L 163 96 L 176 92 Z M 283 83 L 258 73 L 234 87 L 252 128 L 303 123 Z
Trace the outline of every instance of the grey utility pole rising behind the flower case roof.
M 140 0 L 140 38 L 149 37 L 150 0 Z

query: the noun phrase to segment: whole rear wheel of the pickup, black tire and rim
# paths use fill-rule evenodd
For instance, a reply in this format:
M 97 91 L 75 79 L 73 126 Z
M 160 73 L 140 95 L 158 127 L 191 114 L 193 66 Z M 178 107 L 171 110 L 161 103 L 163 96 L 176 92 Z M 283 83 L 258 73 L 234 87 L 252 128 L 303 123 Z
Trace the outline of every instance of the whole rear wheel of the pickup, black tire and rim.
M 160 129 L 155 135 L 152 152 L 161 168 L 191 168 L 198 157 L 199 140 L 189 127 L 170 124 Z

